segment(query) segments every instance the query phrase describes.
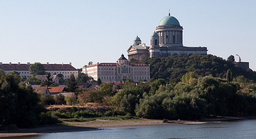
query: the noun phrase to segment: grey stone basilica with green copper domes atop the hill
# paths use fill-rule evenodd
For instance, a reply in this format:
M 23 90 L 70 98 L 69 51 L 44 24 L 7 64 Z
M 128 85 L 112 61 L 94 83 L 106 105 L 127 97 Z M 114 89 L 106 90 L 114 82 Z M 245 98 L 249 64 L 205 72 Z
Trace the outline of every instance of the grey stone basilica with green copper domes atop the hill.
M 167 57 L 176 55 L 207 55 L 207 47 L 186 47 L 183 46 L 183 27 L 179 21 L 170 16 L 163 17 L 155 32 L 150 37 L 150 46 L 142 44 L 137 36 L 133 40 L 133 45 L 129 47 L 128 60 L 143 59 L 144 57 Z

